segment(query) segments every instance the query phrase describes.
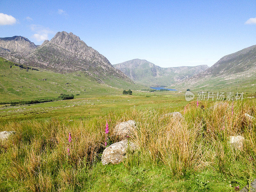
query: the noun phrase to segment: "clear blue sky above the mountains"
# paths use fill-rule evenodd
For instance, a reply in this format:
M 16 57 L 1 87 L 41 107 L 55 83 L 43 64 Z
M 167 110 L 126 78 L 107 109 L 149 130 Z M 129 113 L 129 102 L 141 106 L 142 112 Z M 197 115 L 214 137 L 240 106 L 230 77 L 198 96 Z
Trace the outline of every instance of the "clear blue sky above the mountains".
M 0 37 L 41 44 L 67 31 L 112 64 L 139 58 L 161 67 L 211 66 L 256 44 L 255 18 L 256 1 L 0 0 Z

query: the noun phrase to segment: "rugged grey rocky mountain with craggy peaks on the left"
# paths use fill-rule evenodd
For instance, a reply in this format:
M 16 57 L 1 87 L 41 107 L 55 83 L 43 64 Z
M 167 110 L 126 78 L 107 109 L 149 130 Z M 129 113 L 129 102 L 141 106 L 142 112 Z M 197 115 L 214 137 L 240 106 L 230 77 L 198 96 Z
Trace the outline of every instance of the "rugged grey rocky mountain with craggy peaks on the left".
M 21 36 L 1 38 L 0 56 L 16 63 L 55 72 L 83 71 L 99 83 L 115 78 L 133 83 L 128 76 L 113 68 L 106 57 L 71 32 L 58 32 L 40 46 Z

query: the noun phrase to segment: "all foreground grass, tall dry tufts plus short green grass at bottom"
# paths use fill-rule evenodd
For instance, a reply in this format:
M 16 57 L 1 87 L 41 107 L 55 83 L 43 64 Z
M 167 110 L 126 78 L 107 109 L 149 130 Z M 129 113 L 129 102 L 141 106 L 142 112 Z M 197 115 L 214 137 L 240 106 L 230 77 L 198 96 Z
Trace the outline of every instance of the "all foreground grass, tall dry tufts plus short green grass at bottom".
M 216 186 L 232 191 L 235 185 L 245 185 L 255 177 L 255 162 L 248 163 L 248 157 L 256 158 L 255 119 L 250 121 L 244 116 L 248 113 L 255 117 L 255 103 L 235 102 L 233 115 L 232 101 L 215 109 L 214 102 L 199 102 L 198 107 L 191 102 L 185 112 L 183 107 L 179 109 L 184 116 L 181 119 L 164 116 L 172 112 L 168 108 L 130 108 L 74 122 L 10 122 L 1 127 L 16 134 L 0 147 L 0 173 L 4 175 L 0 177 L 0 188 L 9 191 L 4 188 L 8 185 L 12 186 L 10 191 L 154 191 L 159 182 L 160 191 L 211 191 Z M 121 140 L 112 133 L 117 123 L 136 121 L 136 130 L 129 140 L 138 151 L 127 154 L 123 164 L 103 167 L 100 163 L 106 120 L 108 145 Z M 68 132 L 72 136 L 70 143 Z M 229 146 L 228 137 L 234 135 L 244 136 L 243 150 Z M 121 176 L 111 177 L 116 172 Z M 196 173 L 200 173 L 203 184 L 195 180 Z M 106 174 L 110 174 L 109 178 Z M 231 186 L 221 187 L 220 175 L 229 178 Z M 210 177 L 214 177 L 211 182 L 206 181 Z M 100 183 L 100 178 L 107 183 Z

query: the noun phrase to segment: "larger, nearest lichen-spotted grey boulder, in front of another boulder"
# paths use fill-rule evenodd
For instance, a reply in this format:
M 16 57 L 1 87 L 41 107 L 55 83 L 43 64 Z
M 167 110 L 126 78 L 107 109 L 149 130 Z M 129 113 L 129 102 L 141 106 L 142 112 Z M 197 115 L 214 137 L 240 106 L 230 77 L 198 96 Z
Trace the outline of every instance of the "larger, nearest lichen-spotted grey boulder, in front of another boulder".
M 102 153 L 101 162 L 103 165 L 119 164 L 128 151 L 133 152 L 136 149 L 134 143 L 128 140 L 122 140 L 117 143 L 113 143 L 109 147 L 105 148 Z

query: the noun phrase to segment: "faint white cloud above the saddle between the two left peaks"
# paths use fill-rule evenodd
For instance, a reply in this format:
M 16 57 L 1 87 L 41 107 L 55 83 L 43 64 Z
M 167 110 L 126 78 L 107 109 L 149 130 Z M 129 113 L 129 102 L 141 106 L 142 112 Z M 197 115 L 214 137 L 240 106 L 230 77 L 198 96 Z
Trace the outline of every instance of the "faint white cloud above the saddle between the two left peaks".
M 54 31 L 42 25 L 31 25 L 30 28 L 32 31 L 35 31 L 35 34 L 32 35 L 32 38 L 36 39 L 37 42 L 48 39 L 49 34 L 54 34 Z

